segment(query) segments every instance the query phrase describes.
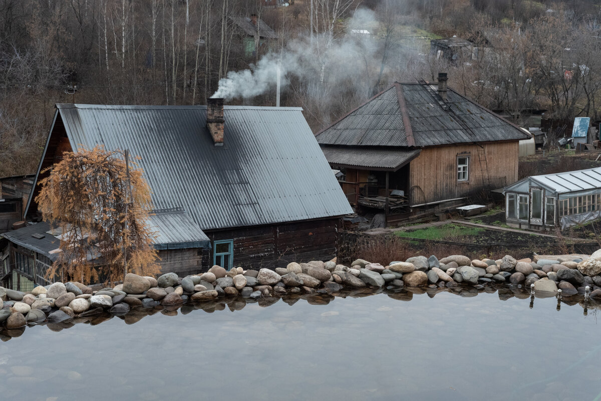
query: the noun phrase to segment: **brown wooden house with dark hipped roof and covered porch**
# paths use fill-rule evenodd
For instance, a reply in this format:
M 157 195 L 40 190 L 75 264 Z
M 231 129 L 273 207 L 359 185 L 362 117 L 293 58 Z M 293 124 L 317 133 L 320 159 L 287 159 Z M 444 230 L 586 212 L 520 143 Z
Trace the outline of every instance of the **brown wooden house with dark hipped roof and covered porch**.
M 316 137 L 353 206 L 398 214 L 465 204 L 517 181 L 519 141 L 530 138 L 447 88 L 444 73 L 438 85 L 395 82 Z

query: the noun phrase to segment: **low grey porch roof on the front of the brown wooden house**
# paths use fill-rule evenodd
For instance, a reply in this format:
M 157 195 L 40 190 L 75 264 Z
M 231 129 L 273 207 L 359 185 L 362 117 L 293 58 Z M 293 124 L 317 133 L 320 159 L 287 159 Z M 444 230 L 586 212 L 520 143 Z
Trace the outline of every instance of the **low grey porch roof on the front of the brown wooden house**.
M 420 149 L 365 149 L 322 146 L 328 161 L 341 167 L 370 167 L 396 171 L 419 155 Z

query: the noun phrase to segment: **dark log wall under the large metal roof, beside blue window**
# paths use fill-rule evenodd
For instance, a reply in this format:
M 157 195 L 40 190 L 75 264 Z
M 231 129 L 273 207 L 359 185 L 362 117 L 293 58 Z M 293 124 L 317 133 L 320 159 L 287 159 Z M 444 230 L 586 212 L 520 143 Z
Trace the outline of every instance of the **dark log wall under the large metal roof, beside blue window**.
M 339 219 L 308 220 L 206 232 L 210 240 L 234 240 L 234 267 L 276 268 L 290 262 L 336 256 Z M 213 265 L 212 251 L 209 255 Z M 206 268 L 209 268 L 207 266 Z

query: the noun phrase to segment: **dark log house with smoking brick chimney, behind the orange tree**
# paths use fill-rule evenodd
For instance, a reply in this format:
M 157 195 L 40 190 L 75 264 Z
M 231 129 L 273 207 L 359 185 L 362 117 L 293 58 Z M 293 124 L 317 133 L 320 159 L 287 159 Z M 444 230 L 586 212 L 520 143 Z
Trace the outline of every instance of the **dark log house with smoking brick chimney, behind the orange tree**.
M 26 205 L 29 222 L 41 220 L 35 197 L 44 169 L 63 152 L 96 145 L 140 157 L 162 271 L 180 276 L 214 264 L 275 268 L 329 260 L 340 217 L 352 213 L 300 107 L 210 99 L 208 107 L 57 104 Z M 7 265 L 17 258 L 29 258 L 23 263 L 34 268 L 53 261 L 58 243 L 44 224 L 3 234 L 12 247 Z M 28 271 L 19 274 L 35 280 L 37 271 Z

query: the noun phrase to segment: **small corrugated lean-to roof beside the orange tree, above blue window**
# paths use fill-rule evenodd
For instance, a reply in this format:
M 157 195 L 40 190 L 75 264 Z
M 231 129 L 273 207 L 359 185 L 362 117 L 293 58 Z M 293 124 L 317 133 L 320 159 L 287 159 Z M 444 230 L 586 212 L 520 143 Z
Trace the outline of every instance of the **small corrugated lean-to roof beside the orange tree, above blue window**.
M 156 249 L 209 247 L 209 237 L 181 209 L 154 210 L 149 216 L 151 229 L 156 230 Z

